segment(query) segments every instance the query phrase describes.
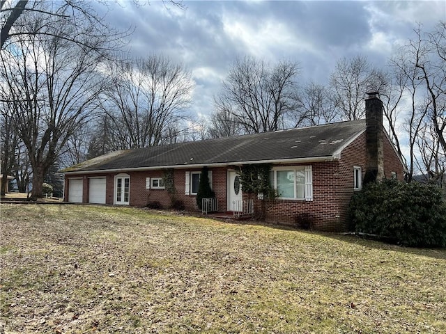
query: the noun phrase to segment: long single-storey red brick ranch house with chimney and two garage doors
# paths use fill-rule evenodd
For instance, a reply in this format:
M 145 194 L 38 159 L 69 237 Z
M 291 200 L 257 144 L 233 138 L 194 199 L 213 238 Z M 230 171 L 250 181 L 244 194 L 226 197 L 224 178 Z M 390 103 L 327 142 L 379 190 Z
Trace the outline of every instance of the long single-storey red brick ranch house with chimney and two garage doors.
M 348 203 L 364 180 L 403 180 L 404 166 L 383 129 L 383 103 L 377 93 L 366 99 L 366 119 L 327 125 L 174 143 L 105 154 L 62 170 L 67 202 L 171 205 L 172 198 L 197 211 L 196 196 L 203 167 L 215 198 L 204 211 L 256 212 L 262 196 L 245 193 L 240 166 L 270 164 L 277 198 L 264 218 L 316 230 L 348 229 Z M 167 191 L 166 175 L 174 189 Z

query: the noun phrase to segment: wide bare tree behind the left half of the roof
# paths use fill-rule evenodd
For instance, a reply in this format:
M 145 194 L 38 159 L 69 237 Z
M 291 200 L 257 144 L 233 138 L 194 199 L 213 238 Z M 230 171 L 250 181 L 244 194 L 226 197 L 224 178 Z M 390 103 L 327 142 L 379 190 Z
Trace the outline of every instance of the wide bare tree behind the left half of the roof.
M 112 66 L 104 106 L 122 148 L 160 145 L 172 123 L 187 116 L 193 89 L 190 73 L 164 56 Z

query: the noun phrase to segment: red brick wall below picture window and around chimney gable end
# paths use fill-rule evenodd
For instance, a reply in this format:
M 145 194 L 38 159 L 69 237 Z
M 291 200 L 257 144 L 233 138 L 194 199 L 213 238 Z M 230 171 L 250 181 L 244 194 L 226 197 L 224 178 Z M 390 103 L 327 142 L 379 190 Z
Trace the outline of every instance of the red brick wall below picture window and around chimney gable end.
M 384 136 L 384 172 L 390 178 L 397 172 L 403 180 L 403 166 L 392 145 Z M 312 228 L 326 231 L 348 230 L 350 222 L 348 204 L 353 196 L 353 167 L 367 168 L 366 136 L 359 136 L 341 152 L 340 161 L 311 164 L 313 168 L 313 200 L 276 200 L 268 205 L 266 220 L 287 225 L 299 225 L 302 218 L 309 218 Z M 261 201 L 256 201 L 256 208 Z

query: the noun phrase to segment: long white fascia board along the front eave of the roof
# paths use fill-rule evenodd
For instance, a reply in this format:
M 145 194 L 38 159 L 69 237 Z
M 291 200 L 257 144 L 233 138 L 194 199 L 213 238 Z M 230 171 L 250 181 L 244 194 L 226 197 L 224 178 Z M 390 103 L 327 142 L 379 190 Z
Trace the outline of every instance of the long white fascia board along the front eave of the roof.
M 215 164 L 185 164 L 185 165 L 172 165 L 172 166 L 152 166 L 152 167 L 137 167 L 137 168 L 115 168 L 115 169 L 102 169 L 102 170 L 79 170 L 73 172 L 66 172 L 65 175 L 79 175 L 79 174 L 99 174 L 99 173 L 122 173 L 122 172 L 139 172 L 145 170 L 159 170 L 159 169 L 194 169 L 206 167 L 228 167 L 228 166 L 243 166 L 250 164 L 308 164 L 314 162 L 326 162 L 339 160 L 336 154 L 325 157 L 307 157 L 307 158 L 293 158 L 293 159 L 273 159 L 273 160 L 255 160 L 255 161 L 229 161 L 219 162 Z

